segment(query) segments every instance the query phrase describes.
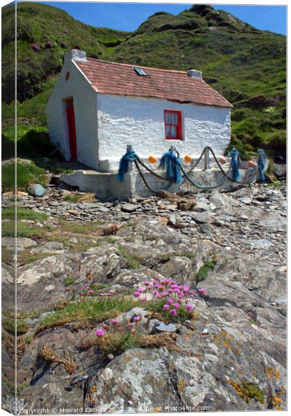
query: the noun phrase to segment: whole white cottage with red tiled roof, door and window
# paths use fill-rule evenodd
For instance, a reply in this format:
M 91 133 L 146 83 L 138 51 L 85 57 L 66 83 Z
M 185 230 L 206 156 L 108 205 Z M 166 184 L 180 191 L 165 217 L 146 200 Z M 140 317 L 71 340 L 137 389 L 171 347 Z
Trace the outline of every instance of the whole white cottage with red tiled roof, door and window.
M 86 58 L 71 49 L 46 105 L 48 132 L 67 160 L 114 171 L 132 144 L 139 157 L 161 157 L 170 145 L 197 157 L 217 155 L 231 135 L 232 105 L 202 73 Z

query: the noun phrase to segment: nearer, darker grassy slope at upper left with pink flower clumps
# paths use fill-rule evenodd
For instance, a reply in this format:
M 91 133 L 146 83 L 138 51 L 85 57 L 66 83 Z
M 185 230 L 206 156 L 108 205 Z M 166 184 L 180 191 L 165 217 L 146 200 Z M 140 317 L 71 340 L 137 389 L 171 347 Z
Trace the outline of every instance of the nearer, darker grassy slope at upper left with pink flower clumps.
M 13 60 L 14 6 L 6 6 L 2 12 L 3 46 L 3 96 L 12 101 L 11 62 Z M 94 58 L 100 58 L 106 46 L 124 40 L 125 32 L 107 28 L 94 28 L 73 19 L 67 12 L 39 3 L 17 5 L 17 99 L 24 101 L 44 89 L 50 76 L 62 67 L 64 51 L 78 45 Z M 46 42 L 53 46 L 48 49 Z M 39 45 L 34 51 L 33 44 Z M 106 45 L 106 46 L 105 46 Z

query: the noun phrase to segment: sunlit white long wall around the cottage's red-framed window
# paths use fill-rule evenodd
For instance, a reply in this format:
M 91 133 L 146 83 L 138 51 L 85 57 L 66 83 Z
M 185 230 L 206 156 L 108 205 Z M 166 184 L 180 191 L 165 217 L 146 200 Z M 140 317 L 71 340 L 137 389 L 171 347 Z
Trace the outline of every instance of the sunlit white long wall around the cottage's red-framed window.
M 230 141 L 230 109 L 155 98 L 98 95 L 100 168 L 116 169 L 127 144 L 141 158 L 161 157 L 171 145 L 181 156 L 198 157 L 205 146 L 221 155 Z M 166 140 L 164 110 L 182 111 L 184 140 Z

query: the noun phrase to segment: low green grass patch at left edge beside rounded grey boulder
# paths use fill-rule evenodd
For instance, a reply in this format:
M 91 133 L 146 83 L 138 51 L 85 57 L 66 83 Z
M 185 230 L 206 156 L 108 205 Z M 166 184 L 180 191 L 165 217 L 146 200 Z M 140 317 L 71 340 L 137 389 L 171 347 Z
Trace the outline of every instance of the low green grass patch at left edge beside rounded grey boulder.
M 45 171 L 35 165 L 34 162 L 16 162 L 17 168 L 17 190 L 25 190 L 29 184 L 39 183 L 45 186 Z M 15 189 L 15 161 L 2 166 L 2 187 L 3 191 Z

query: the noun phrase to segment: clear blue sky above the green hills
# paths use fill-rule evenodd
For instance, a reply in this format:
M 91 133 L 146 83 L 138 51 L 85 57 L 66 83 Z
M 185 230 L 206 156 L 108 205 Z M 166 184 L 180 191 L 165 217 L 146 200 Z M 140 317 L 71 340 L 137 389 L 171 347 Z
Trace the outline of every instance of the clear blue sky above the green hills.
M 62 8 L 75 19 L 90 24 L 121 31 L 134 31 L 145 19 L 155 12 L 169 12 L 177 15 L 191 4 L 164 3 L 75 3 L 44 1 L 43 3 Z M 195 2 L 193 2 L 194 4 Z M 286 34 L 286 6 L 226 6 L 212 4 L 217 10 L 230 12 L 255 28 Z

